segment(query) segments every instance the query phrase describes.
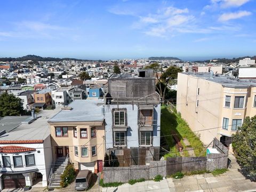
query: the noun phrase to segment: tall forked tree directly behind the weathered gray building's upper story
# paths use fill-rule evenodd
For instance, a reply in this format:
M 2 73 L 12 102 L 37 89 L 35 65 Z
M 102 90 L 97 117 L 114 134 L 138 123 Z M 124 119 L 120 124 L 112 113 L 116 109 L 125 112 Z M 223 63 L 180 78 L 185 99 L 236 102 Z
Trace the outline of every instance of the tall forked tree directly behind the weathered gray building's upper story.
M 152 63 L 146 66 L 145 69 L 153 69 L 154 75 L 157 78 L 156 90 L 160 94 L 161 98 L 165 102 L 166 91 L 168 91 L 171 85 L 177 83 L 178 73 L 182 72 L 179 67 L 171 66 L 163 71 L 159 63 Z

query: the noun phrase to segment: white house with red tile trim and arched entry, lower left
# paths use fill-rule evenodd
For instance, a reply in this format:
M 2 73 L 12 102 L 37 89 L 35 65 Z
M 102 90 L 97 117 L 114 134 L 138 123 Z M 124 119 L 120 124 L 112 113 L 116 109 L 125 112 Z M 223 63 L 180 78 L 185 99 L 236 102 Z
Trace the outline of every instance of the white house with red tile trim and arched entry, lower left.
M 0 120 L 0 189 L 46 187 L 52 167 L 51 135 L 47 120 L 59 110 Z

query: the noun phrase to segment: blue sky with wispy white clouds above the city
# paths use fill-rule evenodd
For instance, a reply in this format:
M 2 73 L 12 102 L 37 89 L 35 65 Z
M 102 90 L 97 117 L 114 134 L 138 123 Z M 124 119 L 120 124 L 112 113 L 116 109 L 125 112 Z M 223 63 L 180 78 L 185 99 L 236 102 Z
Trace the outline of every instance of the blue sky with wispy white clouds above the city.
M 0 57 L 256 55 L 256 0 L 0 1 Z

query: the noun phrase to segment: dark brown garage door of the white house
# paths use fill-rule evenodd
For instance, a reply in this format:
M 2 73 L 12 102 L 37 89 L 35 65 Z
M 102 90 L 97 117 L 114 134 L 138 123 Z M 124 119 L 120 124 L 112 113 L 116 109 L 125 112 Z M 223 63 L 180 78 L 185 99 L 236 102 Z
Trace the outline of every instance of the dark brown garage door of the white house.
M 26 186 L 25 177 L 22 174 L 3 175 L 4 188 L 23 188 Z

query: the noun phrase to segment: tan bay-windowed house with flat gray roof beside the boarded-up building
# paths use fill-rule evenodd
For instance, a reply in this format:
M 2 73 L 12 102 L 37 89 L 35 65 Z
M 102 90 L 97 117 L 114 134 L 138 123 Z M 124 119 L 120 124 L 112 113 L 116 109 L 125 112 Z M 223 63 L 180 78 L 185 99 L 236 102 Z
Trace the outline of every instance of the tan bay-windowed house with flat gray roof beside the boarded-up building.
M 101 172 L 105 155 L 105 121 L 101 100 L 75 100 L 48 122 L 54 161 L 67 156 L 75 169 Z

